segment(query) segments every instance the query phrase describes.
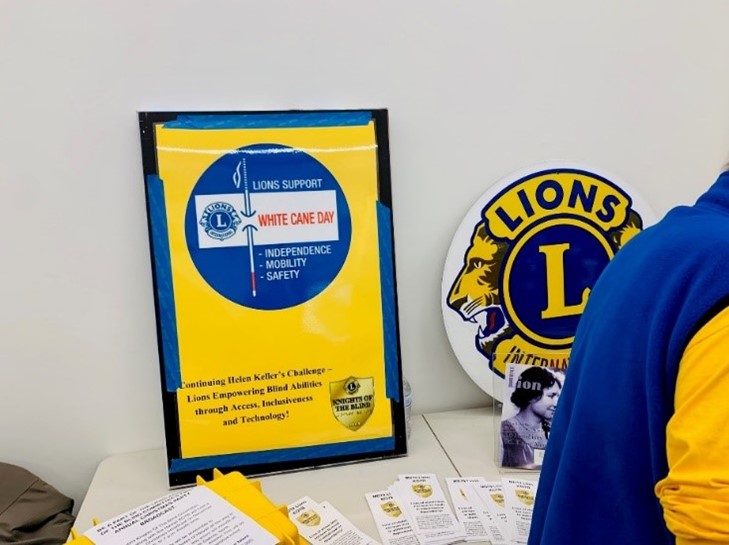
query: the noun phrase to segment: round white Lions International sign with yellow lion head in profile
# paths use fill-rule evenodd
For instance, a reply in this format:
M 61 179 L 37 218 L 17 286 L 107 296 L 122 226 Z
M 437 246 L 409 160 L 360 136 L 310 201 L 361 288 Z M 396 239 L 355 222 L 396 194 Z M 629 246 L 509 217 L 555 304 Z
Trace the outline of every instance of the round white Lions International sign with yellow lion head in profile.
M 443 272 L 448 339 L 469 376 L 501 399 L 508 363 L 566 368 L 598 276 L 654 215 L 614 176 L 543 164 L 471 207 Z

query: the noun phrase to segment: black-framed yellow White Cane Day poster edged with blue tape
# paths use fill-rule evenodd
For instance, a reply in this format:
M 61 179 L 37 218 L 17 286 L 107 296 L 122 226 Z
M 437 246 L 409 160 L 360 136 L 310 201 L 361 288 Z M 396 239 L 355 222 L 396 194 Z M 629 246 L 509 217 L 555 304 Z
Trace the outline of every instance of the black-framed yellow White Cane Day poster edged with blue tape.
M 387 111 L 139 121 L 170 485 L 405 454 Z

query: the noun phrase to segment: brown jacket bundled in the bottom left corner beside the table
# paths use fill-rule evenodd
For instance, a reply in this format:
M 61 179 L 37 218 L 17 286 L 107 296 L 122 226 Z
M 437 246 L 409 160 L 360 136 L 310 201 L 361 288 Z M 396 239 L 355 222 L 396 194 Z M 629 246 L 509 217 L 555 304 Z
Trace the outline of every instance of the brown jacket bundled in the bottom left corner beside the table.
M 73 500 L 21 467 L 0 463 L 0 543 L 65 543 Z

